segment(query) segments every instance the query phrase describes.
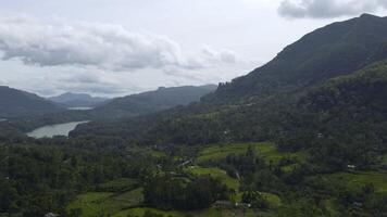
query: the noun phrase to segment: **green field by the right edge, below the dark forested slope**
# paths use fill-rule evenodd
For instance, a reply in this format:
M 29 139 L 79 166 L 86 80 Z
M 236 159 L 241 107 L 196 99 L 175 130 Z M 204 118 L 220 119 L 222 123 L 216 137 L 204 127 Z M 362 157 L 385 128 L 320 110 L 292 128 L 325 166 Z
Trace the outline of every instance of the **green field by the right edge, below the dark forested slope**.
M 351 190 L 359 190 L 364 184 L 373 184 L 375 191 L 379 193 L 387 193 L 387 174 L 386 173 L 339 173 L 329 175 L 329 179 L 333 182 L 347 183 Z

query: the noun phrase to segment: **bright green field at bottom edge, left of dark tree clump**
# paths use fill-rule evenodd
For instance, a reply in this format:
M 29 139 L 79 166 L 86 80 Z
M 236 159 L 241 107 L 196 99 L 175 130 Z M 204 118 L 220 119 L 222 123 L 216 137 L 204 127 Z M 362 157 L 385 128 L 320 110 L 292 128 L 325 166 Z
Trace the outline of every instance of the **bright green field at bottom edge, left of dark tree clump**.
M 89 192 L 78 195 L 67 210 L 79 209 L 82 217 L 114 215 L 121 210 L 141 205 L 142 189 L 138 188 L 125 193 Z

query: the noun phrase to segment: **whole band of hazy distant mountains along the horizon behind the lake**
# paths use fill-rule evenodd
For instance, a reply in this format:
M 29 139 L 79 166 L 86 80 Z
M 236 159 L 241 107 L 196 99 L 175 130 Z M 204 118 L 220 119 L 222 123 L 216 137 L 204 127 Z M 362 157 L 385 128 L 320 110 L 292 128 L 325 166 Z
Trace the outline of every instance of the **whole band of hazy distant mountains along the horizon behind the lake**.
M 213 92 L 217 86 L 186 86 L 159 88 L 154 91 L 132 94 L 117 99 L 93 98 L 85 93 L 64 93 L 48 100 L 25 91 L 0 87 L 0 117 L 36 117 L 45 114 L 66 113 L 71 107 L 95 107 L 85 112 L 82 117 L 117 118 L 132 117 L 141 114 L 170 108 L 176 105 L 187 105 L 197 102 L 201 97 Z M 72 116 L 72 112 L 64 116 Z M 77 119 L 78 115 L 75 115 Z M 47 117 L 46 117 L 47 118 Z M 67 118 L 64 118 L 67 120 Z

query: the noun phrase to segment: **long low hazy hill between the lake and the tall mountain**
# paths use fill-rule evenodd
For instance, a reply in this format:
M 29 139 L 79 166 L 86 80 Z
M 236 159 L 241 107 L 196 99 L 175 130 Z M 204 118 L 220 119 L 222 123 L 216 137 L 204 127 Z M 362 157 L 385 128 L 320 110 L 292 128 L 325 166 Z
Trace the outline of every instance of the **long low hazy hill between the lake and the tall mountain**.
M 200 87 L 161 87 L 154 91 L 114 99 L 104 105 L 96 107 L 92 113 L 97 115 L 109 115 L 113 118 L 143 115 L 177 105 L 187 105 L 191 102 L 198 102 L 201 97 L 211 93 L 215 89 L 215 85 Z

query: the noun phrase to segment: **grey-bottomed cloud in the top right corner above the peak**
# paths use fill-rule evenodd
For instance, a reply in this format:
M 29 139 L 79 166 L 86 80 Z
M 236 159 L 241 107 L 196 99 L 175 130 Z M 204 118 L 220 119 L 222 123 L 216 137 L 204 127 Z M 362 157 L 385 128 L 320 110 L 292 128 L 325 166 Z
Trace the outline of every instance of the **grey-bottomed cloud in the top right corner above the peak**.
M 283 0 L 278 13 L 292 18 L 332 18 L 380 9 L 387 9 L 387 0 Z

